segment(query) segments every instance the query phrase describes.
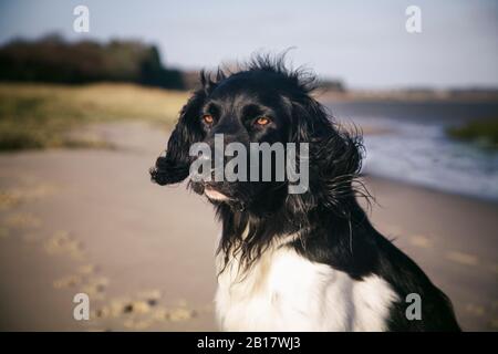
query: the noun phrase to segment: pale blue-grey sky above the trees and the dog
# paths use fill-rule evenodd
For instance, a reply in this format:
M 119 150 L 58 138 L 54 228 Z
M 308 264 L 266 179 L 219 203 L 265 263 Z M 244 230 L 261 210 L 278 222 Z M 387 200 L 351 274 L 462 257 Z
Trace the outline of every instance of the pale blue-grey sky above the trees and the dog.
M 89 33 L 73 30 L 79 4 Z M 405 29 L 408 6 L 421 9 L 421 33 Z M 293 66 L 352 88 L 498 86 L 497 0 L 0 0 L 0 43 L 54 32 L 143 40 L 184 70 L 291 49 Z

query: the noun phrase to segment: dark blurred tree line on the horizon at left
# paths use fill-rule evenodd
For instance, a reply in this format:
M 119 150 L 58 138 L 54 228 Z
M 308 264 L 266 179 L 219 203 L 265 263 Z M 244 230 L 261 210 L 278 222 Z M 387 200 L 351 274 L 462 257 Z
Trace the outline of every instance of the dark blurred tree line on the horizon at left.
M 155 45 L 139 41 L 69 42 L 59 35 L 0 48 L 0 81 L 82 84 L 131 82 L 184 90 L 183 73 L 165 67 Z

